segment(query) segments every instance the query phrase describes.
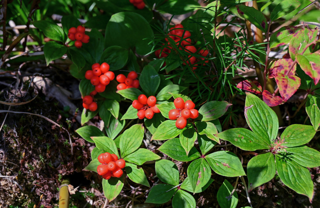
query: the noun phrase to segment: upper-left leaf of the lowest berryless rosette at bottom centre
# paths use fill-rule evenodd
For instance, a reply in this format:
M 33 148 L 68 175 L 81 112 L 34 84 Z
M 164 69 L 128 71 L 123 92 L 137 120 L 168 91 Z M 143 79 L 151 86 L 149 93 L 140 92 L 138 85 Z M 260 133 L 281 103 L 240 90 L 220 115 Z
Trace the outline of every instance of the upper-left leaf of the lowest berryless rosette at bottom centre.
M 174 162 L 170 160 L 156 161 L 155 169 L 160 181 L 173 186 L 179 185 L 179 170 Z

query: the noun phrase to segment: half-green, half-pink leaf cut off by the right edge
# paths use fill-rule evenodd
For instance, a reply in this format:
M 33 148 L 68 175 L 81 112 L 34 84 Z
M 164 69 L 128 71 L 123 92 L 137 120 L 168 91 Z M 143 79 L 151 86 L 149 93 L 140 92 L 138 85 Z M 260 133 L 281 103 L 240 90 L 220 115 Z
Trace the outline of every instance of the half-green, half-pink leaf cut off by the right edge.
M 297 54 L 297 62 L 301 69 L 310 76 L 315 84 L 320 80 L 320 55 L 319 54 Z

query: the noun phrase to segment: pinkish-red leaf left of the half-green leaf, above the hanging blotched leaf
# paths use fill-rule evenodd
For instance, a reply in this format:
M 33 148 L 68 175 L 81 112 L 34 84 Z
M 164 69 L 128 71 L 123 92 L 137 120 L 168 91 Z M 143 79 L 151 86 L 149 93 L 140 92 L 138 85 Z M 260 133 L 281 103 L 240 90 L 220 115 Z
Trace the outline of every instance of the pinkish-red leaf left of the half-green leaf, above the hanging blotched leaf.
M 293 61 L 290 58 L 290 55 L 285 54 L 282 59 L 279 59 L 271 64 L 270 75 L 268 78 L 274 78 L 275 74 L 277 73 L 287 74 L 292 63 Z M 294 65 L 289 75 L 295 75 L 296 69 L 297 69 L 297 65 Z

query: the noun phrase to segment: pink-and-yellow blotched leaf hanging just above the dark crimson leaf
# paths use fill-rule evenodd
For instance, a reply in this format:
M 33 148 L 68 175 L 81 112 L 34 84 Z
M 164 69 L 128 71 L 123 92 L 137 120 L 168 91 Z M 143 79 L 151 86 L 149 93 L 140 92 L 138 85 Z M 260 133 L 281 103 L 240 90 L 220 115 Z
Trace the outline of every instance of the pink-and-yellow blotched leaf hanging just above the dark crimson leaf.
M 300 78 L 294 75 L 287 76 L 282 73 L 276 73 L 275 79 L 284 102 L 298 90 L 301 84 Z

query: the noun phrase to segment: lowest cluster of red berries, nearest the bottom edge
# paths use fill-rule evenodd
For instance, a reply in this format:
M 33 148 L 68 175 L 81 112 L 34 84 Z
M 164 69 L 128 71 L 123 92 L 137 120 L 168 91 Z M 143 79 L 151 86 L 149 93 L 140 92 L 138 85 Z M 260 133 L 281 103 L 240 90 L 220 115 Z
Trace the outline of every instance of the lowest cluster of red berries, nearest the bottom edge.
M 118 159 L 116 154 L 110 154 L 108 152 L 101 153 L 98 156 L 98 160 L 101 165 L 98 165 L 97 172 L 104 179 L 108 180 L 111 177 L 120 178 L 122 176 L 122 169 L 125 167 L 125 161 L 123 159 Z

